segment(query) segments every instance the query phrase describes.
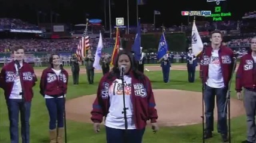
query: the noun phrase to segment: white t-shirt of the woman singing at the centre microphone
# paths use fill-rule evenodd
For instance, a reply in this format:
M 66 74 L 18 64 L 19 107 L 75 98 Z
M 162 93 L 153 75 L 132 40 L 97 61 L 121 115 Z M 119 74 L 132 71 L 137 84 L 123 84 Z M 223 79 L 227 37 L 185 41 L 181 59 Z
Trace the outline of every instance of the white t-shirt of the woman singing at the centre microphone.
M 125 107 L 127 111 L 128 129 L 136 129 L 133 117 L 133 106 L 131 101 L 131 77 L 124 76 Z M 125 129 L 124 101 L 122 92 L 122 80 L 116 79 L 109 88 L 110 108 L 105 125 L 109 128 Z

